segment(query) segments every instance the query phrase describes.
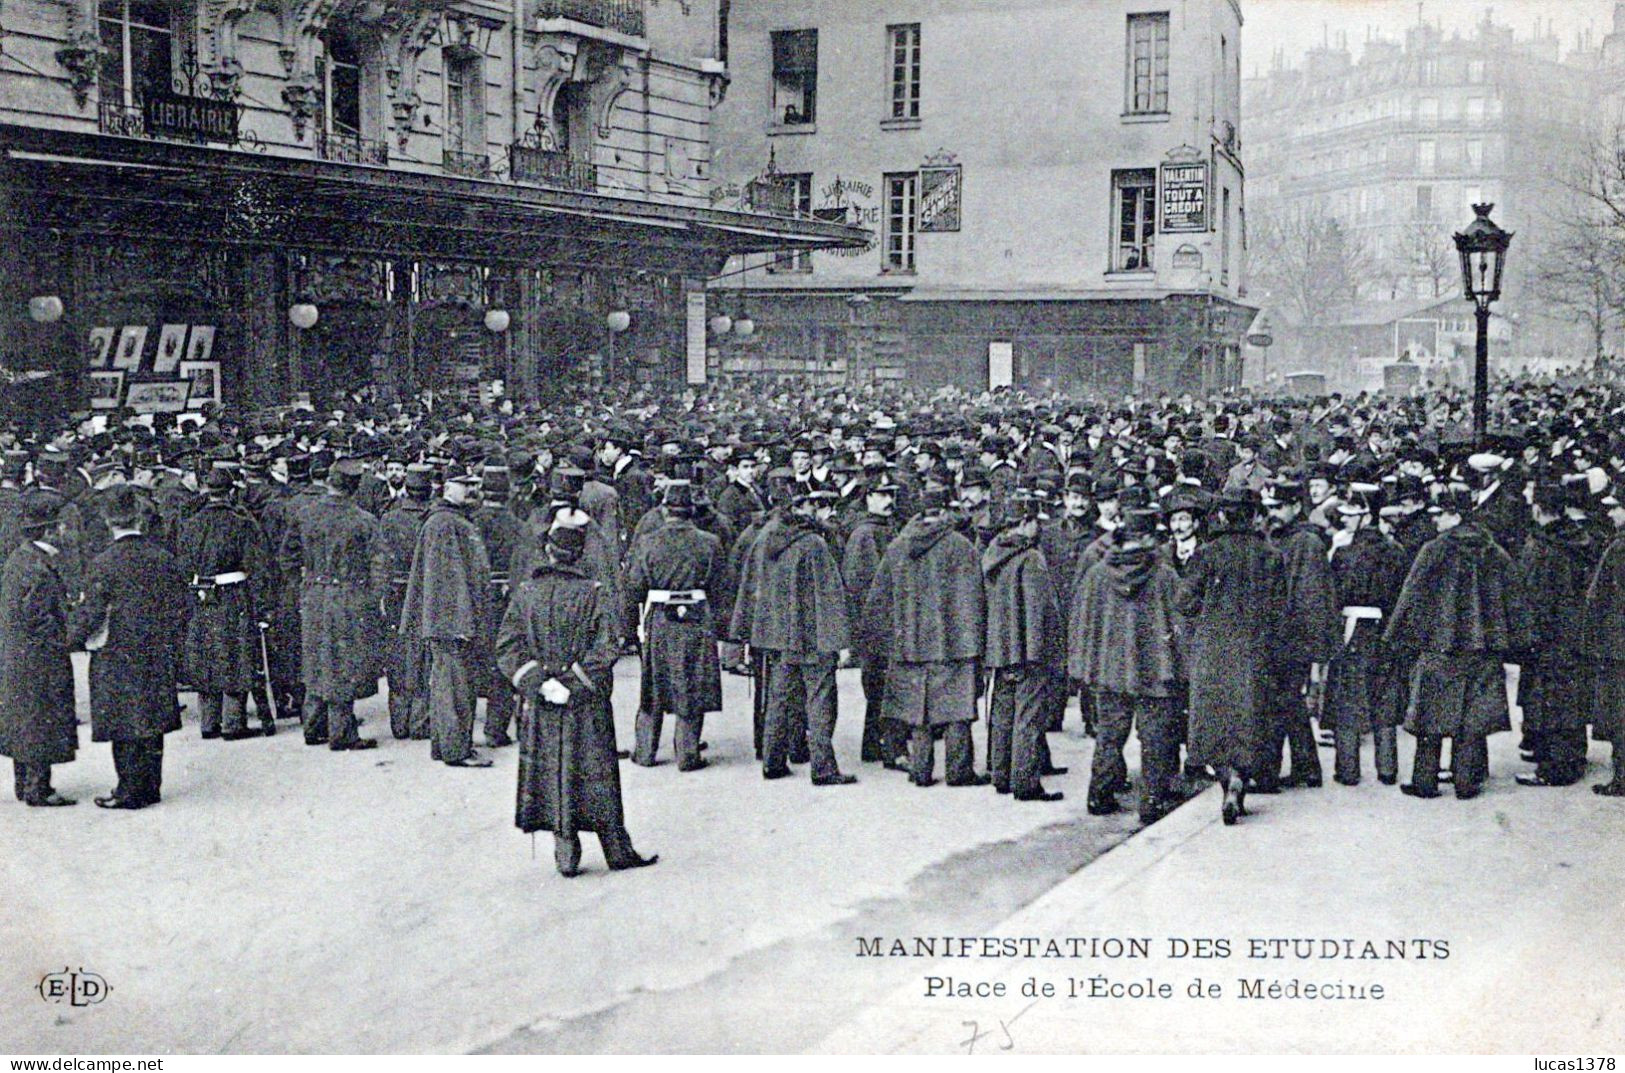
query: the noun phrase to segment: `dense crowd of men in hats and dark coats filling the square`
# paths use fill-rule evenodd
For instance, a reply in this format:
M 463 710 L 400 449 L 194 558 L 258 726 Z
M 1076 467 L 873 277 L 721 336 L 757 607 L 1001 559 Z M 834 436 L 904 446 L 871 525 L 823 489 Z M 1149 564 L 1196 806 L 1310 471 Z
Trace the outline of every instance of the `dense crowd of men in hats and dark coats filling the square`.
M 860 762 L 918 787 L 1058 800 L 1046 735 L 1095 738 L 1087 810 L 1155 821 L 1217 777 L 1248 793 L 1399 779 L 1482 792 L 1511 728 L 1518 782 L 1578 782 L 1625 717 L 1625 400 L 1503 382 L 1487 436 L 1456 392 L 1123 402 L 905 389 L 712 390 L 515 408 L 436 400 L 232 416 L 119 415 L 0 432 L 0 754 L 28 805 L 78 745 L 68 654 L 119 785 L 161 795 L 195 691 L 202 736 L 297 719 L 432 759 L 520 745 L 517 823 L 640 867 L 618 761 L 702 771 L 722 675 L 752 680 L 765 779 L 848 785 L 837 670 L 860 671 Z M 182 626 L 184 624 L 184 626 Z M 634 741 L 618 657 L 642 655 Z M 250 727 L 250 710 L 257 727 Z M 848 717 L 856 714 L 848 712 Z M 972 723 L 986 719 L 985 756 Z M 1316 733 L 1318 722 L 1318 733 Z M 1451 741 L 1448 766 L 1443 743 Z M 852 767 L 852 758 L 847 758 Z M 1594 787 L 1625 795 L 1625 749 Z

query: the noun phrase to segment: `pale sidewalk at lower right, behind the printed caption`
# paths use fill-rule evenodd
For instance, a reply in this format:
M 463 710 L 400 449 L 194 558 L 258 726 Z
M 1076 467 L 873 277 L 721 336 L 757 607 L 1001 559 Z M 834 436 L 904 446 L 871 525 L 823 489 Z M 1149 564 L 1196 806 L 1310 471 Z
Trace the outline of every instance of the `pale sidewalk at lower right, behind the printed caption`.
M 1149 958 L 918 959 L 910 984 L 814 1050 L 964 1053 L 972 1036 L 977 1053 L 1625 1050 L 1625 801 L 1589 788 L 1606 759 L 1607 746 L 1592 745 L 1584 784 L 1524 788 L 1513 784 L 1528 767 L 1516 735 L 1497 735 L 1477 800 L 1414 800 L 1368 775 L 1352 788 L 1254 797 L 1254 815 L 1230 829 L 1211 788 L 991 932 L 1146 938 Z M 1175 959 L 1176 938 L 1227 940 L 1228 956 Z M 1253 938 L 1315 941 L 1305 959 L 1251 958 Z M 1355 953 L 1365 941 L 1386 953 L 1394 940 L 1410 958 L 1323 956 L 1349 951 L 1342 940 Z M 1419 948 L 1428 959 L 1415 959 Z M 926 998 L 926 977 L 1006 992 Z M 1056 997 L 1024 995 L 1032 977 Z M 1222 997 L 1191 998 L 1196 979 Z M 1146 980 L 1172 997 L 1068 997 Z M 1384 997 L 1245 998 L 1242 980 L 1341 993 L 1381 985 Z

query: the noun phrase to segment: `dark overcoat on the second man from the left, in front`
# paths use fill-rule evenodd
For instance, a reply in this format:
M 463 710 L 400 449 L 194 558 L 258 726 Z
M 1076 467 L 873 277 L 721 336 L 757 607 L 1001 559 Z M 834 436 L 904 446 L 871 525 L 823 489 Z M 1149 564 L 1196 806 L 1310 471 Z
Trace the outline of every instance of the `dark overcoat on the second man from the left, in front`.
M 91 561 L 68 644 L 83 649 L 106 629 L 106 642 L 91 652 L 93 741 L 180 730 L 176 691 L 195 603 L 180 563 L 153 536 L 122 536 Z

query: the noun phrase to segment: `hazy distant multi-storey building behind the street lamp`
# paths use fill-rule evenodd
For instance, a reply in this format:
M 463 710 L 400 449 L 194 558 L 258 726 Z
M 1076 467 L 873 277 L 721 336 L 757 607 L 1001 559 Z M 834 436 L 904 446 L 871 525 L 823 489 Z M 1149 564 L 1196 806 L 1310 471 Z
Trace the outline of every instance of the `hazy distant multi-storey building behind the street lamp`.
M 1451 234 L 1472 221 L 1472 205 L 1490 202 L 1495 221 L 1516 232 L 1497 307 L 1516 332 L 1508 348 L 1584 350 L 1571 322 L 1544 315 L 1531 281 L 1557 255 L 1557 219 L 1575 197 L 1568 169 L 1602 85 L 1599 62 L 1584 41 L 1565 52 L 1547 31 L 1519 37 L 1488 15 L 1469 33 L 1419 23 L 1401 41 L 1372 37 L 1358 55 L 1337 41 L 1298 65 L 1274 57 L 1242 88 L 1258 255 L 1274 252 L 1272 224 L 1292 244 L 1315 231 L 1310 221 L 1336 221 L 1350 236 L 1341 267 L 1350 309 L 1459 296 Z M 1282 260 L 1302 258 L 1284 250 Z M 1302 301 L 1258 283 L 1254 298 L 1280 325 L 1324 315 L 1336 335 L 1349 319 L 1342 309 L 1295 309 Z M 1303 341 L 1289 361 L 1342 358 L 1313 332 Z

